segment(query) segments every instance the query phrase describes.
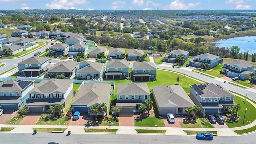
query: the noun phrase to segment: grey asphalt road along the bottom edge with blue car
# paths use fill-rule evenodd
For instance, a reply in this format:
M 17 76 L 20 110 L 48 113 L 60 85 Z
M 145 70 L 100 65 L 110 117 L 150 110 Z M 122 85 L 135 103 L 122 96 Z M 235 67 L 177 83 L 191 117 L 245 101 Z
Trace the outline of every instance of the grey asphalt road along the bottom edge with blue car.
M 256 133 L 242 136 L 214 136 L 213 140 L 197 140 L 195 135 L 119 135 L 119 134 L 55 134 L 55 133 L 10 133 L 1 132 L 0 144 L 255 144 Z

